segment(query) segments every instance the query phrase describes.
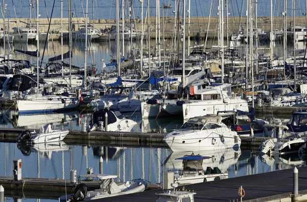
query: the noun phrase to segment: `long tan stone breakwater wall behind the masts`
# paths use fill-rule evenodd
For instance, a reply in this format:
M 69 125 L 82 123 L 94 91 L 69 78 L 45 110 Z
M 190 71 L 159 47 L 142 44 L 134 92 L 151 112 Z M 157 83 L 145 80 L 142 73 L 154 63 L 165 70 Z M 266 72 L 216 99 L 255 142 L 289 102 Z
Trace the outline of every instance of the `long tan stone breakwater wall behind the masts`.
M 182 19 L 179 19 L 182 20 Z M 305 17 L 296 17 L 296 26 L 306 26 L 306 18 Z M 72 18 L 72 29 L 78 30 L 79 28 L 84 26 L 84 18 Z M 126 20 L 128 23 L 129 20 Z M 133 21 L 133 28 L 137 31 L 141 31 L 141 20 L 132 19 Z M 161 37 L 163 32 L 163 25 L 164 25 L 164 35 L 165 38 L 170 38 L 172 36 L 174 28 L 177 25 L 174 24 L 173 17 L 166 17 L 164 19 L 160 18 L 160 28 L 161 28 Z M 258 17 L 258 28 L 261 28 L 265 31 L 270 31 L 270 17 Z M 27 24 L 30 25 L 29 18 L 17 18 L 17 19 L 6 19 L 6 25 L 9 22 L 10 32 L 13 32 L 13 27 L 25 27 Z M 113 25 L 116 25 L 116 21 L 114 19 L 96 19 L 91 20 L 88 19 L 89 24 L 94 25 L 97 29 L 106 29 L 110 28 Z M 287 18 L 287 26 L 290 26 L 291 17 Z M 122 21 L 120 20 L 120 24 Z M 149 19 L 149 29 L 151 31 L 151 37 L 155 38 L 156 36 L 156 17 L 151 17 Z M 226 29 L 227 20 L 226 17 L 224 18 L 224 36 L 227 36 L 227 29 Z M 0 27 L 3 25 L 3 19 L 0 19 Z M 31 19 L 31 25 L 36 26 L 36 18 Z M 144 25 L 144 33 L 148 33 L 148 23 L 147 21 L 143 22 Z M 47 32 L 49 26 L 49 21 L 47 18 L 40 18 L 39 19 L 39 31 L 40 32 Z M 273 17 L 273 29 L 280 31 L 283 26 L 283 18 L 282 17 Z M 228 27 L 229 27 L 229 36 L 232 33 L 237 33 L 240 27 L 246 28 L 246 18 L 245 17 L 229 17 L 228 18 Z M 61 18 L 52 18 L 50 24 L 50 33 L 55 34 L 53 39 L 57 38 L 57 34 L 60 33 L 61 29 Z M 63 32 L 68 33 L 69 31 L 69 19 L 63 18 Z M 188 32 L 188 19 L 186 19 L 186 33 Z M 217 17 L 191 17 L 190 19 L 190 37 L 193 38 L 204 38 L 206 37 L 206 33 L 208 34 L 209 38 L 217 37 L 218 33 L 218 18 Z M 51 37 L 49 37 L 51 39 Z

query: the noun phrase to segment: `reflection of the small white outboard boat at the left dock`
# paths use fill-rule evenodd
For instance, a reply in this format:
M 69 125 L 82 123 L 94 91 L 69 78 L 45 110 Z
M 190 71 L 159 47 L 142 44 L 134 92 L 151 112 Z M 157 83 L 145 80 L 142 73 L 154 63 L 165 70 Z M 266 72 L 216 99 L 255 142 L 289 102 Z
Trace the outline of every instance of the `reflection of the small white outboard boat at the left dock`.
M 31 151 L 37 151 L 40 156 L 47 156 L 48 159 L 51 159 L 52 152 L 69 150 L 69 146 L 64 141 L 45 144 L 17 144 L 17 148 L 24 155 L 30 155 Z

